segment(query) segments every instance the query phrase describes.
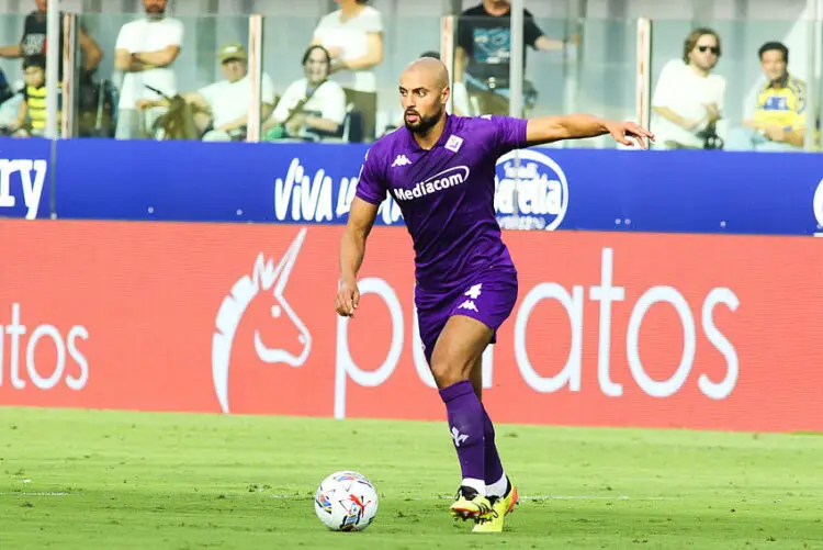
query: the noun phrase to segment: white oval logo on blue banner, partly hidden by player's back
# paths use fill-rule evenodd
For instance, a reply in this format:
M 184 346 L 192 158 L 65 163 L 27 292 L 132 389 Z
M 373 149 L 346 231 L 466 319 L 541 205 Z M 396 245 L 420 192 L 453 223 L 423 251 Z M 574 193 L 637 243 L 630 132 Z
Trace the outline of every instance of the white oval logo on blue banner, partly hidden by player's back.
M 518 149 L 501 156 L 496 168 L 495 211 L 501 228 L 553 231 L 563 223 L 568 182 L 557 162 L 543 153 Z

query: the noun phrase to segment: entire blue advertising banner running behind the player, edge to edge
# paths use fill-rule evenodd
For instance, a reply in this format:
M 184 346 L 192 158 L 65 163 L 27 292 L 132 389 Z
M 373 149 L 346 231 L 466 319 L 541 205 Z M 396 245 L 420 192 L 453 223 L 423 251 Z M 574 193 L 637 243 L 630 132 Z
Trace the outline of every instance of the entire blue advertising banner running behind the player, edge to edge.
M 16 160 L 2 165 L 0 204 L 13 198 L 14 205 L 0 206 L 0 215 L 30 214 L 25 198 L 31 203 L 36 192 L 25 190 L 47 180 L 47 165 L 36 161 L 46 158 L 44 143 L 19 143 L 31 150 L 4 154 Z M 61 218 L 342 224 L 367 150 L 354 144 L 61 141 L 55 207 Z M 497 161 L 496 186 L 504 228 L 823 232 L 823 156 L 816 154 L 532 148 Z M 391 198 L 377 224 L 403 224 Z

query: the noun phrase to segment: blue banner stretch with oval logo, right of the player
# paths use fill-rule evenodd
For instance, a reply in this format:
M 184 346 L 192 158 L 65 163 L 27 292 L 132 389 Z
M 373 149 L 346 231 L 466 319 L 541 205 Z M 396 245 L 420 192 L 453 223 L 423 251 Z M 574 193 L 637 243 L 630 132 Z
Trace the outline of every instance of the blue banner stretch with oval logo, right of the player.
M 501 157 L 497 178 L 504 228 L 777 235 L 823 228 L 816 154 L 528 149 Z

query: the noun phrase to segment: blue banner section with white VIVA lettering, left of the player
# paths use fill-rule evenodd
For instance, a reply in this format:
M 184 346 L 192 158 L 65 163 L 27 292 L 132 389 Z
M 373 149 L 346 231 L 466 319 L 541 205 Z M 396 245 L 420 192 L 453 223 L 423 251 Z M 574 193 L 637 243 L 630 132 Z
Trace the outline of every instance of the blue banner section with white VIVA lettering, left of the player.
M 345 223 L 364 145 L 60 142 L 61 218 Z M 89 169 L 89 157 L 102 159 Z M 79 178 L 79 175 L 92 177 Z M 395 220 L 395 223 L 402 220 Z

